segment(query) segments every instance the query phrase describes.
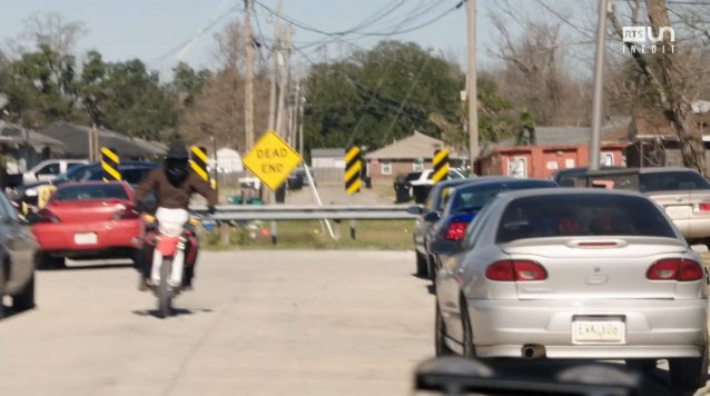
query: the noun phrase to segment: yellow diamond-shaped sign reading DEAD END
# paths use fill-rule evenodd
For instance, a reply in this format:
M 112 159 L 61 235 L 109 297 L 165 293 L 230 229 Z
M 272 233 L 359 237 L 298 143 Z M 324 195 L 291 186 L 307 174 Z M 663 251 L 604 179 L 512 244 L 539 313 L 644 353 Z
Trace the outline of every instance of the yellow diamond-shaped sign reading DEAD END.
M 278 189 L 303 159 L 274 130 L 267 130 L 252 151 L 244 157 L 244 166 L 273 191 Z

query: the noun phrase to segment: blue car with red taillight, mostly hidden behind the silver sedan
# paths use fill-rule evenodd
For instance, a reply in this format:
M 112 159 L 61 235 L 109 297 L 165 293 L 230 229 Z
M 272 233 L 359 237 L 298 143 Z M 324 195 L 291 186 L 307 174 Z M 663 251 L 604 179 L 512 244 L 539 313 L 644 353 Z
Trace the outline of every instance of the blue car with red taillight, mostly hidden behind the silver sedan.
M 548 179 L 516 179 L 509 177 L 481 178 L 476 182 L 461 185 L 454 188 L 446 200 L 444 210 L 431 216 L 434 225 L 430 227 L 425 237 L 426 251 L 431 260 L 431 279 L 436 278 L 436 273 L 445 257 L 432 253 L 432 244 L 437 240 L 451 240 L 458 242 L 463 239 L 469 224 L 479 211 L 499 194 L 504 191 L 524 190 L 532 188 L 560 187 Z

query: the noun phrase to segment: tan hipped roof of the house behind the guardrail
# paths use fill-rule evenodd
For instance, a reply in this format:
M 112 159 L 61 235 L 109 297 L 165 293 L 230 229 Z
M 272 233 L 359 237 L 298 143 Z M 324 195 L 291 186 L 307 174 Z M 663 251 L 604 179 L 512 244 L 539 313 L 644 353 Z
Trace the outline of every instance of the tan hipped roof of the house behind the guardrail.
M 447 149 L 450 151 L 448 158 L 460 159 L 467 158 L 455 150 L 445 147 L 444 141 L 433 138 L 431 136 L 414 131 L 412 136 L 408 136 L 402 140 L 397 140 L 389 146 L 385 146 L 378 150 L 369 152 L 365 156 L 367 159 L 431 159 L 434 156 L 436 149 Z

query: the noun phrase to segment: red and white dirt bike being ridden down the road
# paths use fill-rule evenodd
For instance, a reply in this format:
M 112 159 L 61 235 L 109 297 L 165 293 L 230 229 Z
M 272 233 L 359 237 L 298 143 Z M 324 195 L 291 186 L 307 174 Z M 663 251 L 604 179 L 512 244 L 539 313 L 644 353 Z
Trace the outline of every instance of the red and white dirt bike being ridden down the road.
M 154 216 L 144 215 L 144 219 L 147 225 L 145 244 L 152 247 L 144 250 L 145 259 L 151 264 L 149 288 L 158 298 L 158 317 L 166 318 L 172 313 L 172 299 L 183 290 L 185 270 L 191 270 L 197 259 L 197 227 L 210 221 L 193 215 L 180 235 L 167 235 L 160 231 Z M 178 258 L 183 265 L 175 266 Z

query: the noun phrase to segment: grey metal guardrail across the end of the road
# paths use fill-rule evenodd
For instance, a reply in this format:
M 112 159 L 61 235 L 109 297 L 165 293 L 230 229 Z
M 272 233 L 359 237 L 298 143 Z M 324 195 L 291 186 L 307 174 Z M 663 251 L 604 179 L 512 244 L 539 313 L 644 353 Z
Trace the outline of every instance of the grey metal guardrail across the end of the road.
M 351 238 L 356 236 L 355 220 L 414 220 L 416 215 L 407 212 L 408 205 L 332 205 L 332 206 L 294 206 L 294 205 L 218 205 L 213 219 L 217 222 L 255 221 L 255 220 L 351 220 Z M 191 211 L 204 214 L 206 206 L 191 206 Z M 225 229 L 224 227 L 221 228 Z M 227 227 L 228 230 L 228 227 Z M 331 237 L 337 239 L 331 227 Z M 272 241 L 277 242 L 277 229 L 272 229 Z M 228 238 L 227 238 L 228 239 Z

